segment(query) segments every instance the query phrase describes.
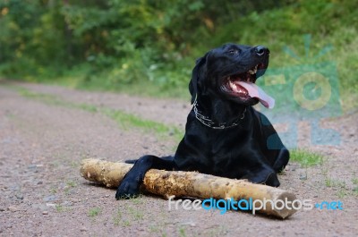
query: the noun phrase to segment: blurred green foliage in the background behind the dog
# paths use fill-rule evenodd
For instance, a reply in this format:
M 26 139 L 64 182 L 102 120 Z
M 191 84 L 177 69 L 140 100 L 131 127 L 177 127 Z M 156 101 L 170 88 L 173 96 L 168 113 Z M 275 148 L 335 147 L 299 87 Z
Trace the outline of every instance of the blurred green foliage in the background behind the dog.
M 336 62 L 350 109 L 358 105 L 357 26 L 350 0 L 0 0 L 0 75 L 181 96 L 209 48 L 260 44 L 271 67 Z M 283 48 L 305 55 L 304 34 L 311 51 L 298 62 Z M 314 57 L 327 45 L 333 50 Z

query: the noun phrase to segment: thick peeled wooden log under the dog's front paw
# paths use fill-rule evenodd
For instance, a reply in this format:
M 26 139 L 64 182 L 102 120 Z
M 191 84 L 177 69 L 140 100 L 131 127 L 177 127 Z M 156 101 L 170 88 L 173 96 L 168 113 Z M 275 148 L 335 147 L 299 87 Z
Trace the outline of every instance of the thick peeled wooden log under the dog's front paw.
M 116 188 L 131 167 L 132 165 L 121 162 L 85 159 L 81 164 L 81 176 L 91 182 L 102 183 L 108 188 Z M 296 199 L 293 193 L 286 190 L 197 172 L 151 169 L 145 175 L 141 188 L 166 199 L 173 195 L 198 199 L 251 199 L 257 212 L 282 219 L 296 212 L 292 205 L 282 208 L 282 202 L 292 203 Z M 258 209 L 257 206 L 262 202 L 255 200 L 272 202 L 267 201 L 265 209 Z M 275 205 L 277 200 L 280 202 L 279 207 Z

